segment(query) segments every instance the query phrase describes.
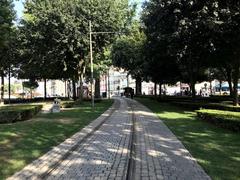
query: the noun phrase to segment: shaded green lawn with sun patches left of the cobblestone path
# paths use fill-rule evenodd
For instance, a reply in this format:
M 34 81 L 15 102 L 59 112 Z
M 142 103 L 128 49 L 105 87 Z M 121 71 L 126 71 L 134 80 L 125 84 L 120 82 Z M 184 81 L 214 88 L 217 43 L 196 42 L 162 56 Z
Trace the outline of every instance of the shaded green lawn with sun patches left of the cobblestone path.
M 0 124 L 0 179 L 21 170 L 78 132 L 108 109 L 112 102 L 96 103 L 94 112 L 90 102 L 84 102 L 59 114 L 39 114 L 28 121 Z

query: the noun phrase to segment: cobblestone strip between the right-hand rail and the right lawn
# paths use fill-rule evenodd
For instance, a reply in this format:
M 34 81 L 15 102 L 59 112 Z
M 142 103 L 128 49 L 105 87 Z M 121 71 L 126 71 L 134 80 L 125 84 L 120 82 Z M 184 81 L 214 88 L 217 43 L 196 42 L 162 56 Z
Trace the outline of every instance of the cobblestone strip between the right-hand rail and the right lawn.
M 210 179 L 154 113 L 136 101 L 131 100 L 130 103 L 135 115 L 135 162 L 132 179 Z

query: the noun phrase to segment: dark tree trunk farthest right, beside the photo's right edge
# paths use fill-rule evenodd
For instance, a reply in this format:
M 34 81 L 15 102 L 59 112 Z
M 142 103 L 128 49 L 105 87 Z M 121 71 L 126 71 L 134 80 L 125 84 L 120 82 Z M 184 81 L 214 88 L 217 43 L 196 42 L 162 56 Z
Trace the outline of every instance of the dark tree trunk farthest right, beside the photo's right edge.
M 239 98 L 238 98 L 238 80 L 240 74 L 240 67 L 239 65 L 235 67 L 233 72 L 233 105 L 239 105 Z

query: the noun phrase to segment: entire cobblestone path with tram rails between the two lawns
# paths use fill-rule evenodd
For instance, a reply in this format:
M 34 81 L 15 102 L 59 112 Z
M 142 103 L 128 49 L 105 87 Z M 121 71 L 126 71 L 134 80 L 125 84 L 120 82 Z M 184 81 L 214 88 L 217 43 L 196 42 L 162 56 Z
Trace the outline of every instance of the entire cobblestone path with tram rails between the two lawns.
M 103 124 L 47 174 L 36 175 L 41 168 L 30 165 L 10 179 L 210 179 L 176 136 L 149 109 L 130 99 L 116 101 L 120 106 L 108 114 Z M 70 142 L 76 141 L 76 137 Z M 61 145 L 57 152 L 61 152 Z M 42 159 L 48 161 L 49 155 Z

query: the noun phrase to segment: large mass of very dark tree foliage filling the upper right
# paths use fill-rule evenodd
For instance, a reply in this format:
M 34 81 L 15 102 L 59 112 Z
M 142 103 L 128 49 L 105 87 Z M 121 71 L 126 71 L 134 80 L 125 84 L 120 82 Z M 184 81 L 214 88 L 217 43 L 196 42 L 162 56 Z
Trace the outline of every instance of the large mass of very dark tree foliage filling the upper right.
M 239 10 L 240 3 L 231 0 L 147 1 L 142 22 L 150 78 L 190 83 L 195 96 L 195 83 L 210 78 L 208 68 L 218 69 L 230 86 L 233 82 L 231 95 L 238 104 Z M 211 76 L 222 78 L 218 71 Z

